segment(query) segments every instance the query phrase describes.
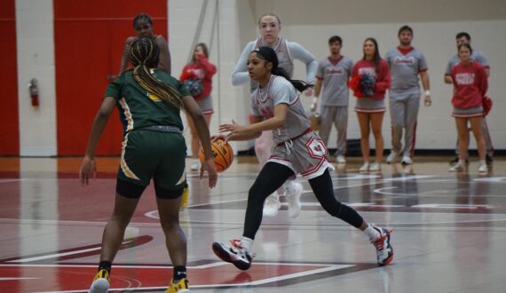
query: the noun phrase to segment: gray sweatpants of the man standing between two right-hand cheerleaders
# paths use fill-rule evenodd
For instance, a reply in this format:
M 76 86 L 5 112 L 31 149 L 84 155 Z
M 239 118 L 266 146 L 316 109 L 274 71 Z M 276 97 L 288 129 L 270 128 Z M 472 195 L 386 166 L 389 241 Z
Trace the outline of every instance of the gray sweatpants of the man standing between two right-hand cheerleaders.
M 415 154 L 416 118 L 420 109 L 420 93 L 390 97 L 391 150 L 403 156 Z M 402 147 L 402 130 L 404 148 Z

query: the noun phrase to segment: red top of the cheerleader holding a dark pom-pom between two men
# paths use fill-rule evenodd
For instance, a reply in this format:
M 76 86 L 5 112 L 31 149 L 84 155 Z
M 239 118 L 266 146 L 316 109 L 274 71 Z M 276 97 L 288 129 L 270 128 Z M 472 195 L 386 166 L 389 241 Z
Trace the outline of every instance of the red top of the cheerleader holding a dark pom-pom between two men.
M 371 61 L 361 59 L 352 70 L 352 78 L 356 75 L 370 74 L 376 77 L 375 93 L 373 99 L 384 99 L 386 90 L 390 88 L 390 67 L 384 59 L 380 59 L 378 70 L 376 71 L 375 64 Z

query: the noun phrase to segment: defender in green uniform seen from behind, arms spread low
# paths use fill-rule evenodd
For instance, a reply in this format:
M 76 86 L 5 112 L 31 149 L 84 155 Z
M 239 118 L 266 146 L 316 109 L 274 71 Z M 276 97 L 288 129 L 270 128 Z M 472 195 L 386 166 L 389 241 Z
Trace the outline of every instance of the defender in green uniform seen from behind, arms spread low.
M 83 185 L 95 172 L 94 154 L 99 137 L 114 107 L 120 110 L 123 145 L 116 180 L 115 210 L 102 238 L 99 273 L 90 292 L 107 292 L 109 273 L 130 218 L 151 178 L 154 180 L 160 223 L 166 237 L 174 277 L 166 292 L 189 292 L 186 280 L 186 237 L 179 226 L 179 204 L 186 185 L 186 143 L 179 110 L 194 120 L 202 141 L 209 186 L 217 183 L 217 171 L 210 147 L 210 132 L 194 98 L 174 77 L 154 69 L 160 50 L 151 38 L 136 40 L 130 47 L 133 69 L 124 72 L 107 88 L 106 98 L 95 116 L 86 154 L 80 170 Z

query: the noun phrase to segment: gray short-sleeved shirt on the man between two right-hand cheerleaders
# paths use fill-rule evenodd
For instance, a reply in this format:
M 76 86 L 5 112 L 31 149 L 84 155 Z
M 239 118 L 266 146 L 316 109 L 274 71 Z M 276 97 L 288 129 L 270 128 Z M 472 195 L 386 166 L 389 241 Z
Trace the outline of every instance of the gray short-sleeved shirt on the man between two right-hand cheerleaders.
M 418 75 L 427 70 L 422 51 L 413 48 L 403 54 L 398 48 L 394 48 L 386 53 L 385 59 L 390 66 L 391 95 L 420 93 Z

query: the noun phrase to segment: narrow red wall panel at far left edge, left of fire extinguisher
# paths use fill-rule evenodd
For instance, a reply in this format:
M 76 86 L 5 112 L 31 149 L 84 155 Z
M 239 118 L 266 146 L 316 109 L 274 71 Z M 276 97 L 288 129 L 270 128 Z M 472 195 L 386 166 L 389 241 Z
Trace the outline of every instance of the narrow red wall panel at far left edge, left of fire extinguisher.
M 16 46 L 15 0 L 0 1 L 0 64 L 2 65 L 2 107 L 0 107 L 0 155 L 20 154 L 20 120 L 18 110 L 18 67 Z M 28 85 L 27 85 L 28 91 Z

